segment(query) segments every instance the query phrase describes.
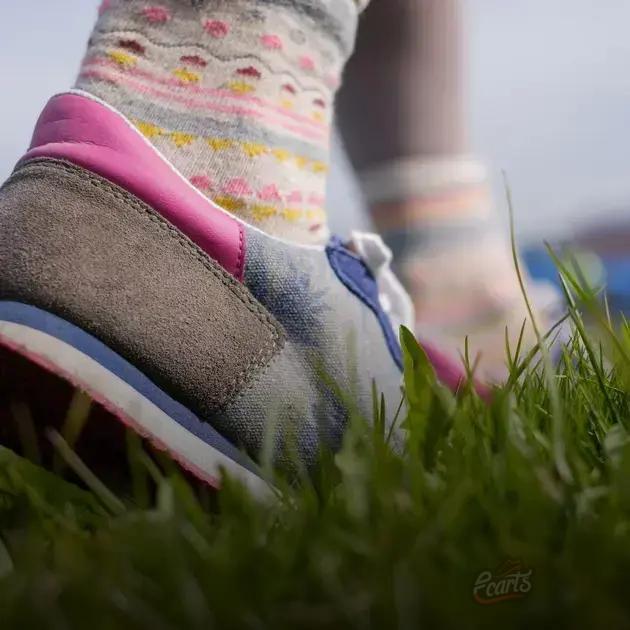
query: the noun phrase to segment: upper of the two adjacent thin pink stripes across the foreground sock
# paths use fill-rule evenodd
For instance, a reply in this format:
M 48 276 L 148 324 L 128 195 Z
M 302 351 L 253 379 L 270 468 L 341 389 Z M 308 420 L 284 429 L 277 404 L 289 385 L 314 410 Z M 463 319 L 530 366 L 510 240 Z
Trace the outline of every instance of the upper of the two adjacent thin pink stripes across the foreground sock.
M 101 66 L 113 70 L 119 69 L 119 66 L 115 61 L 103 59 L 102 57 L 91 57 L 85 60 L 85 68 L 93 66 Z M 248 94 L 236 94 L 234 92 L 231 92 L 230 90 L 225 90 L 221 88 L 203 88 L 195 85 L 194 83 L 187 84 L 183 81 L 180 81 L 179 79 L 170 76 L 159 75 L 154 72 L 149 72 L 148 70 L 142 70 L 141 68 L 125 68 L 124 72 L 125 74 L 129 74 L 139 79 L 144 79 L 150 83 L 155 83 L 166 87 L 175 87 L 199 96 L 214 96 L 220 99 L 232 99 L 236 101 L 250 103 L 252 105 L 256 105 L 258 107 L 262 107 L 269 111 L 275 112 L 276 114 L 284 118 L 290 118 L 295 122 L 303 123 L 309 127 L 313 127 L 314 130 L 318 130 L 320 132 L 325 132 L 328 129 L 328 126 L 324 123 L 317 122 L 316 120 L 313 120 L 308 116 L 302 116 L 294 112 L 289 112 L 286 109 L 275 105 L 274 103 L 261 99 L 258 96 L 250 96 Z

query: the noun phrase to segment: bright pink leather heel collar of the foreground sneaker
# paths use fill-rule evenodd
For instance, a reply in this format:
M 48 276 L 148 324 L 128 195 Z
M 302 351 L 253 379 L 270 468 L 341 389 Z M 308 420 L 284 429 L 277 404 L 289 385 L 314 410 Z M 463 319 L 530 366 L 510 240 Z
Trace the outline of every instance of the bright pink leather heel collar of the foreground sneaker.
M 39 118 L 20 163 L 55 158 L 104 177 L 159 212 L 238 280 L 241 223 L 197 193 L 122 116 L 79 94 L 56 96 Z

